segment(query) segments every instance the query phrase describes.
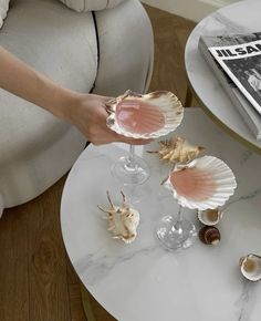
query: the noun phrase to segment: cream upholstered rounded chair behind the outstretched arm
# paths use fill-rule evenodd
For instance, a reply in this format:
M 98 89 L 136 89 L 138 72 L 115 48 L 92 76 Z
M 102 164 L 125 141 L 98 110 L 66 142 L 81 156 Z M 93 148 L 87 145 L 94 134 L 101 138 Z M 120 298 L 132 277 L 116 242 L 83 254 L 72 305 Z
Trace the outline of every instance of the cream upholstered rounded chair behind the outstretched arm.
M 117 6 L 93 14 L 58 0 L 12 0 L 0 45 L 79 92 L 90 92 L 94 82 L 100 94 L 145 92 L 153 68 L 149 20 L 137 0 L 112 2 Z M 54 184 L 84 145 L 75 127 L 0 90 L 0 216 Z

